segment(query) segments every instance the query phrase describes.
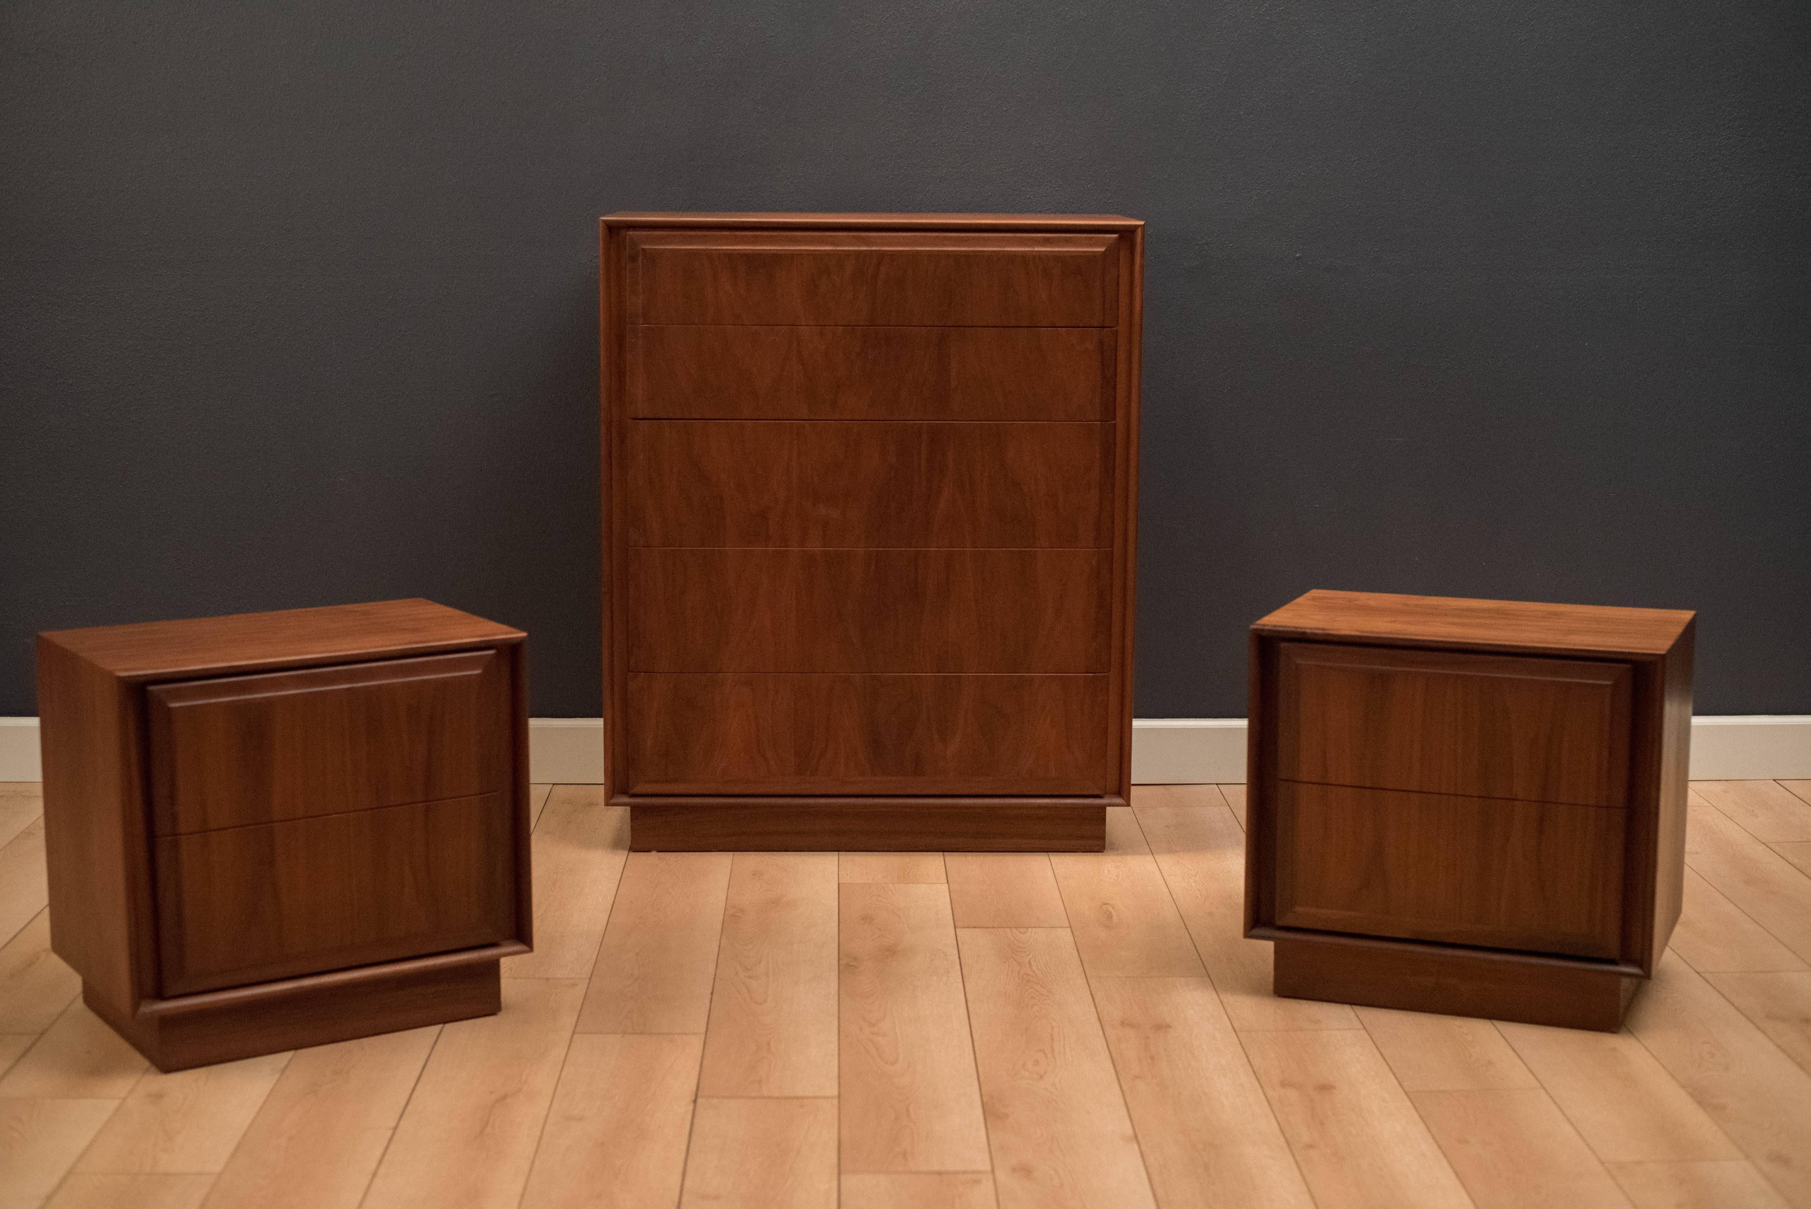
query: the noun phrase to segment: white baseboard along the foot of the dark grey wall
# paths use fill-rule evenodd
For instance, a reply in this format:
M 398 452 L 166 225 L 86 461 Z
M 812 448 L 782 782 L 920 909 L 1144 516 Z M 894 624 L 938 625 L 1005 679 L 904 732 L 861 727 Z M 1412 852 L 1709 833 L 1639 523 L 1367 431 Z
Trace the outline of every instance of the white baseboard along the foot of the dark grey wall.
M 1244 780 L 1244 719 L 1137 719 L 1132 782 L 1181 785 Z M 38 719 L 0 719 L 0 780 L 42 780 Z M 1811 778 L 1811 715 L 1691 719 L 1693 780 Z M 603 719 L 531 719 L 529 778 L 603 780 Z

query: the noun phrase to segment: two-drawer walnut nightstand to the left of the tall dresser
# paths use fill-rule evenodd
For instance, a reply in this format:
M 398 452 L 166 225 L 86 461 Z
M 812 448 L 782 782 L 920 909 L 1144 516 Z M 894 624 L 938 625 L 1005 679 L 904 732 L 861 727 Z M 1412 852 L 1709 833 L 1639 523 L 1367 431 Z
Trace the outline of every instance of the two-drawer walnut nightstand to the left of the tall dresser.
M 161 1070 L 498 1010 L 523 635 L 429 601 L 38 635 L 51 945 Z

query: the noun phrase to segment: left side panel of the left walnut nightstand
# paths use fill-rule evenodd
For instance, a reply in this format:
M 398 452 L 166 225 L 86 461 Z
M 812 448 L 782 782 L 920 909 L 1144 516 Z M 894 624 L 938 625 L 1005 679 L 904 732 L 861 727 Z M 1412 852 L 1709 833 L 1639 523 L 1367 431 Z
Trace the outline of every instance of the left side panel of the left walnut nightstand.
M 118 679 L 38 639 L 51 948 L 118 1012 L 139 999 L 150 914 L 136 717 Z

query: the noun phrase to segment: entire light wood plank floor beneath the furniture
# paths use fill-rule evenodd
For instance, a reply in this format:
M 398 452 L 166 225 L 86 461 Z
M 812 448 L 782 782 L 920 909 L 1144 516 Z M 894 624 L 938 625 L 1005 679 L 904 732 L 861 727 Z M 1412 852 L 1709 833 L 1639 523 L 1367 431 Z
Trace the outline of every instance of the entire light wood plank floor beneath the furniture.
M 1811 1207 L 1811 782 L 1699 782 L 1621 1033 L 1270 995 L 1244 791 L 1088 856 L 634 854 L 538 787 L 502 1015 L 149 1071 L 0 785 L 0 1209 Z

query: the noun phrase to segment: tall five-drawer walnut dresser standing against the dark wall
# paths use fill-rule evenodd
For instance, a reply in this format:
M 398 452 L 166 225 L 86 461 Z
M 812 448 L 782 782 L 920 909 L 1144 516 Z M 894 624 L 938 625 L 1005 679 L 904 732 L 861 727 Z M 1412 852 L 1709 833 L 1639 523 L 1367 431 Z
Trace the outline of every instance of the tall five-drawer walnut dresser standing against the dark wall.
M 636 849 L 1099 849 L 1143 224 L 614 214 L 605 715 Z

